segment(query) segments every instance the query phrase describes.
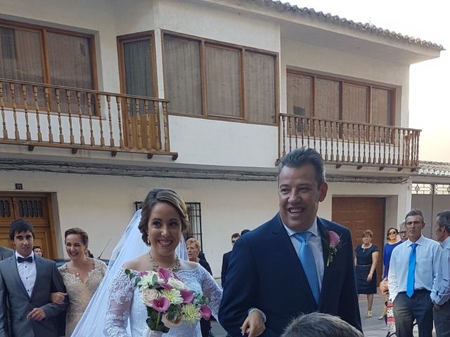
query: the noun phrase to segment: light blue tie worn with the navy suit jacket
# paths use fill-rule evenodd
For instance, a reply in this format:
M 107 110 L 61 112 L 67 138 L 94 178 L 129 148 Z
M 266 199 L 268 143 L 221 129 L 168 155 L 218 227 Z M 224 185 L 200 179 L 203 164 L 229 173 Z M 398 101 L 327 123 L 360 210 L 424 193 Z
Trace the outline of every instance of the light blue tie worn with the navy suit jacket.
M 319 303 L 319 279 L 317 277 L 316 262 L 314 261 L 314 254 L 311 247 L 308 244 L 311 232 L 295 233 L 294 237 L 300 242 L 300 263 L 304 273 L 307 275 L 309 288 L 311 288 L 312 294 L 316 303 Z

